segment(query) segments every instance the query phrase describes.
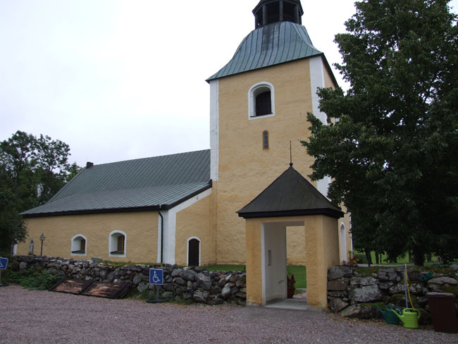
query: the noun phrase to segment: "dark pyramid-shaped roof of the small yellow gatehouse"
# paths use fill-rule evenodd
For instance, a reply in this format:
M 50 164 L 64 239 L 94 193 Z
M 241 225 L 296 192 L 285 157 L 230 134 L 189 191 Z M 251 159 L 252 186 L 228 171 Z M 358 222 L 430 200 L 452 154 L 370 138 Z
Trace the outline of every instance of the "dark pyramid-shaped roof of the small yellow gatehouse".
M 339 219 L 344 215 L 292 166 L 237 213 L 244 219 L 301 215 Z

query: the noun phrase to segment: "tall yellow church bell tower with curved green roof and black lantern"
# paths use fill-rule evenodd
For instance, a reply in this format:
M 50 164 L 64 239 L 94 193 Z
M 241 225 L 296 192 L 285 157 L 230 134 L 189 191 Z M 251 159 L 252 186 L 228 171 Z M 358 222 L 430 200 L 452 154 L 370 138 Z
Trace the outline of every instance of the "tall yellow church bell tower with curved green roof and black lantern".
M 310 135 L 307 113 L 326 123 L 317 87 L 336 87 L 323 54 L 302 25 L 299 0 L 261 0 L 253 10 L 255 28 L 210 85 L 212 197 L 216 204 L 217 263 L 245 262 L 245 223 L 235 211 L 273 182 L 290 162 L 311 174 L 313 158 L 300 140 Z M 326 180 L 313 182 L 323 195 Z M 297 257 L 304 238 L 292 238 Z M 299 247 L 300 246 L 300 247 Z M 299 258 L 291 262 L 303 264 Z

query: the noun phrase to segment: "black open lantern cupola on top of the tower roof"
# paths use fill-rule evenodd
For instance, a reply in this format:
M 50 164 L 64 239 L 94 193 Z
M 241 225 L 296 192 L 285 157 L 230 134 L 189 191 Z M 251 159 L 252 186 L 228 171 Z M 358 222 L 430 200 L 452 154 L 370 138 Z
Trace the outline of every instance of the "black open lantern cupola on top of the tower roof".
M 289 21 L 302 25 L 302 9 L 300 0 L 261 0 L 253 10 L 255 29 L 264 25 Z

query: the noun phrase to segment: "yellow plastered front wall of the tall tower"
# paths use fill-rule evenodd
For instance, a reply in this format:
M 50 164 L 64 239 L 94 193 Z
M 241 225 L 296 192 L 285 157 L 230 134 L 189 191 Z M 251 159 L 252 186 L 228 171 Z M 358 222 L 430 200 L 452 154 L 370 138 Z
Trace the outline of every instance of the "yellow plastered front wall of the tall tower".
M 271 82 L 275 116 L 249 119 L 248 92 L 258 82 Z M 259 195 L 283 173 L 290 162 L 302 176 L 314 160 L 299 140 L 309 137 L 307 112 L 313 110 L 309 60 L 252 70 L 219 80 L 219 174 L 217 192 L 218 263 L 245 262 L 245 224 L 235 211 Z M 268 131 L 269 149 L 262 147 Z M 316 185 L 316 183 L 314 183 Z M 289 235 L 288 241 L 303 241 Z M 302 246 L 298 246 L 302 250 Z M 295 248 L 289 251 L 299 257 Z M 295 258 L 295 264 L 304 264 Z

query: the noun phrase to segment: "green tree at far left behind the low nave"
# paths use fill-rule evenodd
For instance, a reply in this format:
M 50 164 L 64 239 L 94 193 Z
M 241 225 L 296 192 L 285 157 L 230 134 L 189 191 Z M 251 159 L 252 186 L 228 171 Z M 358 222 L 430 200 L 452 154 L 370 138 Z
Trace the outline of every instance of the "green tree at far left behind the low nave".
M 26 238 L 20 213 L 44 204 L 80 170 L 70 148 L 51 137 L 18 131 L 0 142 L 0 252 Z

